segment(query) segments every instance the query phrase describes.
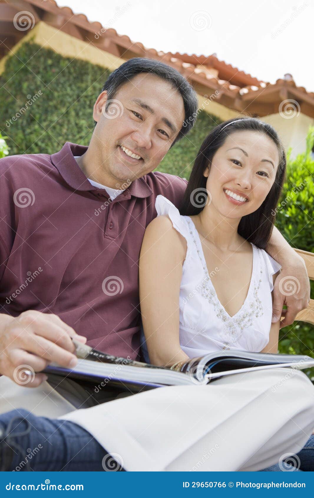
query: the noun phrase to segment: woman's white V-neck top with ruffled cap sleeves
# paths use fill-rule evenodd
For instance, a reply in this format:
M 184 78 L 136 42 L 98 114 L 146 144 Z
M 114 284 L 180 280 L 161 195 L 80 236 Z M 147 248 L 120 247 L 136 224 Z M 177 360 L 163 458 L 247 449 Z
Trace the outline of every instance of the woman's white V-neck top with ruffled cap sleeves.
M 261 351 L 269 342 L 273 277 L 281 265 L 263 249 L 253 248 L 252 277 L 246 299 L 232 317 L 219 302 L 210 280 L 200 236 L 189 216 L 166 197 L 156 197 L 157 216 L 166 215 L 187 241 L 180 285 L 180 345 L 190 357 L 236 349 Z M 227 282 L 226 282 L 227 285 Z

